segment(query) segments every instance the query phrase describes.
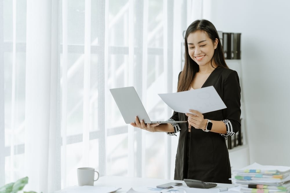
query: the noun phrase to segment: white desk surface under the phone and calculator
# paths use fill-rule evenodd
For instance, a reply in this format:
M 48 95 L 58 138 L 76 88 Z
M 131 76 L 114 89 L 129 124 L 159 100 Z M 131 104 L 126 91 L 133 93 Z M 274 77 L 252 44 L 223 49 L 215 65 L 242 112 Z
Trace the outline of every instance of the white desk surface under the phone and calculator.
M 127 192 L 131 188 L 134 189 L 134 188 L 138 188 L 142 186 L 155 188 L 156 185 L 160 185 L 160 184 L 164 184 L 168 182 L 179 182 L 183 184 L 182 186 L 179 186 L 180 188 L 182 187 L 188 188 L 188 186 L 186 185 L 184 181 L 179 181 L 179 180 L 134 178 L 134 177 L 121 177 L 121 176 L 102 176 L 99 178 L 98 181 L 95 181 L 94 185 L 122 188 L 116 191 L 116 193 L 121 193 L 121 192 Z M 234 186 L 237 186 L 237 185 L 218 183 L 218 185 L 215 188 L 211 188 L 210 192 L 213 192 L 213 190 L 216 190 L 216 192 L 219 192 L 220 188 L 232 188 Z M 194 189 L 196 190 L 195 192 L 207 192 L 206 190 L 209 190 L 209 189 L 199 189 L 199 188 L 194 188 Z M 224 193 L 229 193 L 229 192 L 230 191 L 225 191 Z

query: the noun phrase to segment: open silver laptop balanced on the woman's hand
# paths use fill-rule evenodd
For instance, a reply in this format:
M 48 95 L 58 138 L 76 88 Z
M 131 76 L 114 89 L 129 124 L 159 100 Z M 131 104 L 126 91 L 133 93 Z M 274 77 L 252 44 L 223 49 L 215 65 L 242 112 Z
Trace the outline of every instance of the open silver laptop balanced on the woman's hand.
M 135 123 L 135 116 L 144 123 L 184 123 L 187 121 L 151 121 L 135 88 L 123 87 L 110 89 L 111 94 L 124 118 L 125 123 Z

